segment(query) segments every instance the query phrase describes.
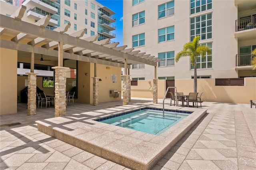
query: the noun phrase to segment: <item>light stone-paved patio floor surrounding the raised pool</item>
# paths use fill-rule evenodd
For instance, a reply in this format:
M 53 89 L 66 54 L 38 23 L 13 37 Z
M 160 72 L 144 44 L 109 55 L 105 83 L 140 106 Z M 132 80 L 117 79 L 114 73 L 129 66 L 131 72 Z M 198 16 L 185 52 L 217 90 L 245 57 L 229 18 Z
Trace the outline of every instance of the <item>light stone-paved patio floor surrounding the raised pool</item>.
M 165 103 L 165 109 L 177 108 L 169 106 L 169 99 L 166 99 Z M 144 98 L 132 98 L 129 105 L 124 107 L 122 101 L 99 103 L 98 106 L 74 103 L 74 106 L 68 105 L 66 108 L 66 117 L 75 122 L 79 119 L 77 117 L 79 113 L 104 113 L 104 111 L 114 109 L 116 111 L 122 109 L 123 112 L 138 105 L 152 106 L 154 104 L 152 99 Z M 158 104 L 155 106 L 161 107 L 162 100 L 158 99 Z M 196 110 L 196 108 L 190 109 Z M 204 102 L 198 109 L 207 109 L 207 113 L 163 158 L 156 162 L 152 169 L 255 169 L 255 107 L 251 109 L 250 104 Z M 37 109 L 36 115 L 27 116 L 27 105 L 23 103 L 18 103 L 18 113 L 0 116 L 1 170 L 128 169 L 38 131 L 35 121 L 50 118 L 54 118 L 54 107 Z M 12 123 L 20 124 L 11 126 Z M 66 127 L 72 127 L 72 123 Z M 120 132 L 121 139 L 129 140 L 131 144 L 138 141 L 138 139 L 132 140 L 127 136 L 121 136 L 125 131 Z M 151 142 L 152 145 L 156 143 L 154 140 L 156 135 L 146 134 L 146 136 L 149 143 Z M 136 136 L 134 133 L 134 138 L 145 139 L 145 136 Z M 150 149 L 149 145 L 148 147 Z

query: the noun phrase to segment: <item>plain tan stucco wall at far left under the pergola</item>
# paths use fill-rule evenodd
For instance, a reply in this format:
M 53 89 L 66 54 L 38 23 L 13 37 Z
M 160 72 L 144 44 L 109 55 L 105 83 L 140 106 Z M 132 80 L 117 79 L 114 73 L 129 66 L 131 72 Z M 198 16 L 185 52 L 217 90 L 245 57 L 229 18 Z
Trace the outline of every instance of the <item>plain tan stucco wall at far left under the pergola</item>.
M 0 115 L 17 113 L 17 55 L 0 48 Z

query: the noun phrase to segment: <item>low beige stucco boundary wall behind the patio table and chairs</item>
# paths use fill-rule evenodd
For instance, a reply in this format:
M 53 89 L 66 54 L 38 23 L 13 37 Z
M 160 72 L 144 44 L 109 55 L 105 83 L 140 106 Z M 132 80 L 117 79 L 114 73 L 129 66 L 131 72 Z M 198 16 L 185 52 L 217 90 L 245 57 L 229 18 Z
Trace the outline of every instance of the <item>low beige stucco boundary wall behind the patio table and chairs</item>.
M 140 80 L 138 86 L 132 86 L 140 90 L 133 89 L 132 97 L 153 98 L 149 90 L 148 81 Z M 215 79 L 198 79 L 197 92 L 203 92 L 202 101 L 227 102 L 227 103 L 250 103 L 250 100 L 256 100 L 256 77 L 246 77 L 244 86 L 215 86 Z M 164 88 L 162 88 L 164 87 Z M 176 79 L 175 87 L 177 91 L 182 91 L 185 95 L 193 92 L 193 79 Z M 143 90 L 142 90 L 143 89 Z M 158 80 L 158 98 L 163 99 L 165 91 L 164 80 Z

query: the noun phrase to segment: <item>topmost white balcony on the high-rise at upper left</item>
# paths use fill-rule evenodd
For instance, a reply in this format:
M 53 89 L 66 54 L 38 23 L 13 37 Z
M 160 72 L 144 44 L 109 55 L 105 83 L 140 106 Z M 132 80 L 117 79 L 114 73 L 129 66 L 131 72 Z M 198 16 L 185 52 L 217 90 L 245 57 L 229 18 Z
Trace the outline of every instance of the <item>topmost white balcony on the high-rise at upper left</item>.
M 44 11 L 50 12 L 52 14 L 55 14 L 56 12 L 58 12 L 58 8 L 53 7 L 49 4 L 46 4 L 40 0 L 24 0 L 22 2 L 22 5 L 26 6 L 27 9 L 33 9 L 34 7 L 40 8 Z

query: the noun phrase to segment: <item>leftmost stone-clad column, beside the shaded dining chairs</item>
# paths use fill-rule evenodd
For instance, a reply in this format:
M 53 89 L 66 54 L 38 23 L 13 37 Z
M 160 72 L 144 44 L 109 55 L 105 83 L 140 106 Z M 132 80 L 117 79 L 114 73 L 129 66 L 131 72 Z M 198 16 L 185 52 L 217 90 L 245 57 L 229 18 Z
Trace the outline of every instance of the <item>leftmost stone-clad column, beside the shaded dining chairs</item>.
M 28 116 L 36 115 L 36 75 L 38 73 L 28 74 Z

